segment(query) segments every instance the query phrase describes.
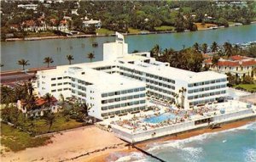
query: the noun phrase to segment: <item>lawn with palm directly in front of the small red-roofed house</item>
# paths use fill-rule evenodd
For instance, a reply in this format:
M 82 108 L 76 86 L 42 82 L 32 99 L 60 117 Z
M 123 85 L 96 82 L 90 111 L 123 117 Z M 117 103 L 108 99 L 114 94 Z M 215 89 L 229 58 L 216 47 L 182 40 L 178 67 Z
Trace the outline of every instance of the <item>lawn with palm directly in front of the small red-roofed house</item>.
M 55 117 L 55 122 L 53 123 L 53 125 L 50 127 L 49 131 L 63 131 L 63 130 L 68 130 L 68 129 L 72 129 L 72 128 L 77 128 L 80 126 L 83 126 L 82 123 L 70 119 L 70 120 L 66 120 L 65 117 L 63 117 L 62 115 L 56 115 Z M 47 133 L 49 126 L 45 125 L 45 120 L 44 119 L 35 119 L 35 120 L 26 120 L 25 122 L 25 126 L 26 127 L 31 127 L 31 123 L 33 122 L 34 124 L 34 128 L 31 128 L 32 131 L 34 131 L 37 135 L 38 134 L 44 134 Z

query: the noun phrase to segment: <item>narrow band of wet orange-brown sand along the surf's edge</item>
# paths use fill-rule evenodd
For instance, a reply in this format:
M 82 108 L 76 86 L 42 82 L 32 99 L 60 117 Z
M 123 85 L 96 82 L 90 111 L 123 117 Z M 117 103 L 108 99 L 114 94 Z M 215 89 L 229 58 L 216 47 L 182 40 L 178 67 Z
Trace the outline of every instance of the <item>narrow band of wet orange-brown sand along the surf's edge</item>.
M 239 120 L 239 121 L 235 121 L 235 122 L 231 122 L 231 123 L 226 123 L 223 126 L 221 126 L 220 128 L 217 129 L 209 129 L 209 128 L 205 128 L 205 129 L 200 129 L 200 130 L 195 130 L 195 131 L 188 131 L 188 132 L 184 132 L 181 134 L 178 134 L 177 136 L 168 136 L 168 137 L 161 137 L 161 138 L 157 138 L 157 139 L 153 139 L 153 140 L 149 140 L 146 142 L 140 142 L 137 145 L 137 147 L 139 148 L 147 148 L 148 144 L 152 144 L 154 142 L 166 142 L 166 141 L 170 141 L 170 140 L 180 140 L 180 139 L 185 139 L 185 138 L 189 138 L 189 137 L 195 137 L 204 133 L 211 133 L 211 132 L 217 132 L 217 131 L 224 131 L 224 130 L 229 130 L 232 128 L 236 128 L 236 127 L 240 127 L 240 126 L 245 126 L 251 122 L 255 122 L 255 119 L 247 119 L 247 120 Z M 131 148 L 130 150 L 128 149 L 128 147 L 124 148 L 124 149 L 119 149 L 117 150 L 119 153 L 130 153 L 130 152 L 138 152 L 137 149 L 135 148 Z M 84 159 L 83 162 L 98 162 L 98 161 L 106 161 L 106 159 L 108 159 L 108 157 L 111 155 L 111 153 L 106 153 L 106 154 L 99 154 L 98 156 L 96 156 L 96 154 L 91 157 L 89 160 L 88 159 Z

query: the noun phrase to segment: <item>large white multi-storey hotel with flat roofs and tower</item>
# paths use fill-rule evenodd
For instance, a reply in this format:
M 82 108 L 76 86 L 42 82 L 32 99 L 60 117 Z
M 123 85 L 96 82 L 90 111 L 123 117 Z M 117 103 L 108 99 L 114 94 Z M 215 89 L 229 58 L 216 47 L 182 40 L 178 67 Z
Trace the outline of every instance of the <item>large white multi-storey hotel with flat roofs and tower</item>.
M 101 120 L 146 109 L 146 93 L 162 102 L 181 103 L 183 97 L 185 109 L 226 97 L 226 75 L 172 68 L 149 53 L 128 53 L 123 40 L 118 34 L 116 42 L 103 45 L 103 61 L 38 71 L 39 94 L 79 98 L 91 105 L 89 114 Z

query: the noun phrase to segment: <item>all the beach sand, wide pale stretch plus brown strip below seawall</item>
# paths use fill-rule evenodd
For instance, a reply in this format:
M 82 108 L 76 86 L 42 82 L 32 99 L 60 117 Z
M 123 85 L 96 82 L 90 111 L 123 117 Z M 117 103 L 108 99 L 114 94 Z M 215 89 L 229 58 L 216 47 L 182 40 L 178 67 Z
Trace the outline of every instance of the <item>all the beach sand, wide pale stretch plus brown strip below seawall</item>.
M 161 137 L 137 144 L 139 148 L 146 148 L 154 142 L 165 142 L 168 140 L 184 139 L 194 137 L 207 132 L 223 131 L 230 128 L 244 126 L 253 120 L 240 120 L 224 124 L 218 129 L 201 129 L 184 132 L 176 136 Z M 14 153 L 2 154 L 1 161 L 4 162 L 29 162 L 29 161 L 73 161 L 73 162 L 103 162 L 113 153 L 128 154 L 137 152 L 135 148 L 128 148 L 127 143 L 115 137 L 113 133 L 102 131 L 96 126 L 67 131 L 56 134 L 51 138 L 52 142 L 38 148 L 26 148 L 26 150 Z M 90 153 L 90 154 L 87 154 Z

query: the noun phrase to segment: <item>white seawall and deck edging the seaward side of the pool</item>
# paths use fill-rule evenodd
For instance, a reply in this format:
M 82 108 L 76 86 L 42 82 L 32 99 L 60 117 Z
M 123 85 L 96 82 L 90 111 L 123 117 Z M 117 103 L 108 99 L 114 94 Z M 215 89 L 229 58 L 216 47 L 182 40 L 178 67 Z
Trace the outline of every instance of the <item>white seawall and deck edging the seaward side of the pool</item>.
M 143 115 L 133 116 L 130 120 L 127 116 L 125 120 L 111 121 L 111 127 L 115 136 L 125 140 L 126 142 L 136 143 L 149 139 L 165 137 L 177 134 L 183 131 L 192 131 L 195 129 L 205 128 L 213 124 L 223 124 L 234 120 L 242 120 L 247 118 L 256 118 L 256 107 L 252 105 L 247 108 L 247 103 L 238 100 L 230 100 L 225 103 L 214 103 L 207 105 L 211 111 L 203 115 L 191 115 L 187 119 L 166 120 L 159 124 L 143 122 Z M 214 110 L 213 110 L 214 109 Z M 224 114 L 221 110 L 225 110 Z M 162 111 L 162 109 L 160 109 Z M 152 112 L 147 112 L 152 115 Z M 147 115 L 146 115 L 147 116 Z M 128 122 L 127 125 L 125 122 Z M 120 125 L 122 123 L 122 125 Z M 125 124 L 124 124 L 125 123 Z

